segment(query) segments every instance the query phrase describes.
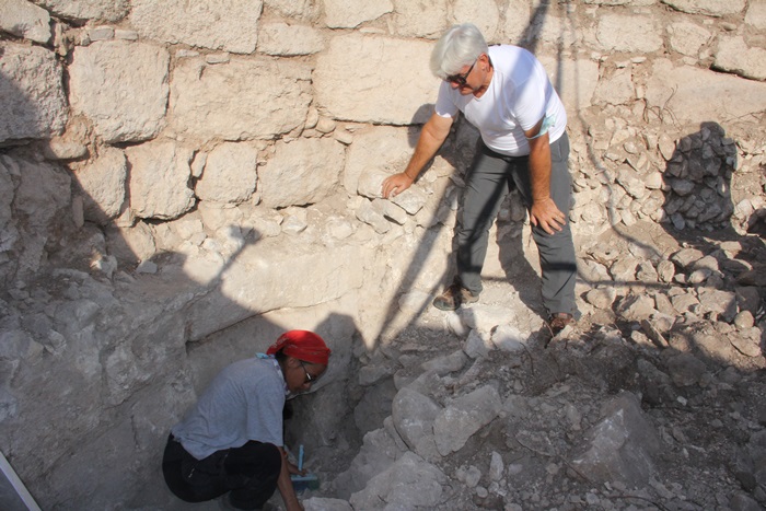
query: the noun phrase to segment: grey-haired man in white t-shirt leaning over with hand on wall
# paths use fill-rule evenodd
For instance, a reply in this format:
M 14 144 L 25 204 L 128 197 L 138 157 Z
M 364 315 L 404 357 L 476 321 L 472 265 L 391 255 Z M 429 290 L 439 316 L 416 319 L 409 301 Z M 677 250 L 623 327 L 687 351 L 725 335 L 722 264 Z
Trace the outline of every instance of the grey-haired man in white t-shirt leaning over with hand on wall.
M 444 33 L 431 54 L 443 80 L 407 167 L 383 182 L 383 196 L 409 188 L 436 155 L 460 112 L 481 137 L 466 176 L 457 236 L 457 275 L 433 300 L 443 311 L 478 301 L 489 229 L 511 189 L 529 210 L 539 252 L 543 304 L 554 334 L 573 322 L 577 265 L 567 220 L 571 176 L 567 167 L 567 114 L 545 69 L 517 46 L 487 46 L 465 23 Z

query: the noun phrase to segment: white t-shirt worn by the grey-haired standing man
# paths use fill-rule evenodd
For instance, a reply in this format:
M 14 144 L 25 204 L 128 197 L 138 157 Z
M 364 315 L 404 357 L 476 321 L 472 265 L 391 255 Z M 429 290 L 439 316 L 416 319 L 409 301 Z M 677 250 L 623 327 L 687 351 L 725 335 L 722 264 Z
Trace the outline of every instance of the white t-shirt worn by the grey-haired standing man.
M 567 128 L 567 113 L 539 60 L 524 48 L 510 45 L 490 46 L 489 58 L 495 74 L 481 97 L 461 95 L 444 81 L 439 89 L 437 115 L 455 117 L 463 112 L 489 149 L 511 156 L 530 153 L 524 131 L 544 117 L 553 123 L 548 128 L 550 142 L 558 140 Z

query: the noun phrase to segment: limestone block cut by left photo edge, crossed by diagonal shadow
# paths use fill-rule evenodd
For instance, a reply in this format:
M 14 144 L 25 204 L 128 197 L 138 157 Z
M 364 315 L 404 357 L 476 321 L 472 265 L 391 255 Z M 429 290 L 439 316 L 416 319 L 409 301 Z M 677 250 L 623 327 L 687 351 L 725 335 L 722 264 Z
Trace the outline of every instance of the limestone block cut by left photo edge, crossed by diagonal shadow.
M 67 124 L 61 66 L 53 51 L 0 42 L 0 142 L 50 138 Z

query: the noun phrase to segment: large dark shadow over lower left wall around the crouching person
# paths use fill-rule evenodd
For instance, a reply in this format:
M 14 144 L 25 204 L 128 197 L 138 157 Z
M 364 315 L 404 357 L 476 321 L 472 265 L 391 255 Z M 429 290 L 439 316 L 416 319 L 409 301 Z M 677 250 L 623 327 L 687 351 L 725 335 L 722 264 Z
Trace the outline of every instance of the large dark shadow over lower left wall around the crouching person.
M 288 314 L 282 323 L 228 299 L 219 283 L 242 251 L 258 243 L 256 231 L 241 237 L 207 282 L 186 275 L 181 253 L 159 254 L 154 274 L 134 271 L 141 257 L 129 241 L 83 218 L 77 174 L 46 161 L 44 144 L 25 140 L 42 138 L 19 129 L 37 119 L 35 105 L 22 102 L 2 68 L 0 91 L 3 111 L 12 113 L 0 117 L 0 450 L 44 509 L 114 502 L 184 509 L 164 486 L 161 457 L 167 431 L 198 392 L 221 368 L 264 351 L 286 329 L 313 329 L 338 347 L 352 337 L 353 321 L 328 313 L 294 324 Z M 119 262 L 109 258 L 116 246 Z M 190 342 L 189 311 L 216 294 L 214 303 L 249 318 Z M 297 415 L 314 423 L 305 438 L 304 423 L 292 426 L 291 438 L 310 452 L 327 445 L 333 431 L 349 429 L 350 351 L 336 350 L 318 392 L 295 402 Z

